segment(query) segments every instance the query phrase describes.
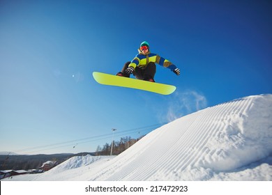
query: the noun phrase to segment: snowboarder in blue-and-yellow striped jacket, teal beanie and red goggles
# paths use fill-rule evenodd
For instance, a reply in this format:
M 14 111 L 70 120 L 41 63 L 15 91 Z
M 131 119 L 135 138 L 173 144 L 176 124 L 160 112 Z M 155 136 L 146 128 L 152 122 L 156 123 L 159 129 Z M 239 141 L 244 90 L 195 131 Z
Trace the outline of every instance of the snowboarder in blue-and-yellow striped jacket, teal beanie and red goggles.
M 176 68 L 176 65 L 167 61 L 167 59 L 158 56 L 158 54 L 151 53 L 149 50 L 149 43 L 146 41 L 141 43 L 138 52 L 139 54 L 135 56 L 133 61 L 128 61 L 123 65 L 123 69 L 116 74 L 117 76 L 130 77 L 130 74 L 133 74 L 136 79 L 155 82 L 155 63 L 158 63 L 165 68 L 169 68 L 176 75 L 179 75 L 181 72 L 179 68 Z

